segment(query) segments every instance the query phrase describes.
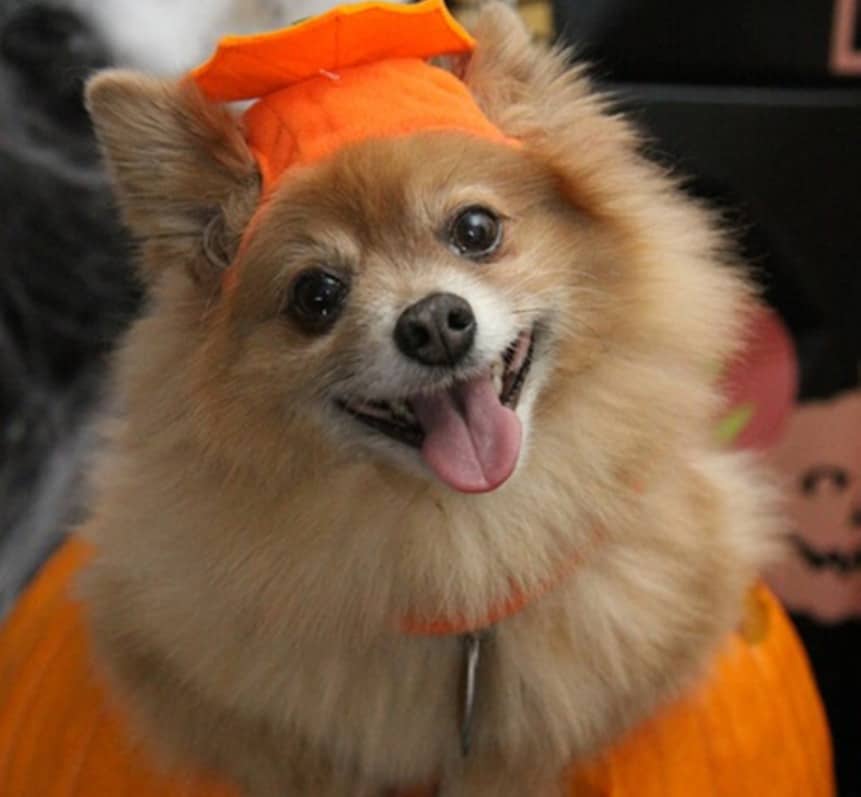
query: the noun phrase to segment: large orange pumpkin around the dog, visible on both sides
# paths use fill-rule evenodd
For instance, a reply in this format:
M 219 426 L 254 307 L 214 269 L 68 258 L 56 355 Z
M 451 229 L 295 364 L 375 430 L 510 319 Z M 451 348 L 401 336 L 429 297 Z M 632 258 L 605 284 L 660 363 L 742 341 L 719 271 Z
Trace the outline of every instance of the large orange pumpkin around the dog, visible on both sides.
M 0 795 L 237 797 L 160 772 L 91 668 L 67 543 L 0 629 Z M 804 653 L 764 589 L 706 682 L 569 775 L 571 797 L 830 797 L 831 750 Z

